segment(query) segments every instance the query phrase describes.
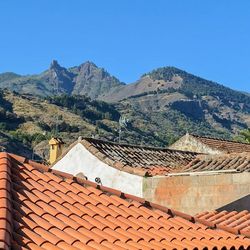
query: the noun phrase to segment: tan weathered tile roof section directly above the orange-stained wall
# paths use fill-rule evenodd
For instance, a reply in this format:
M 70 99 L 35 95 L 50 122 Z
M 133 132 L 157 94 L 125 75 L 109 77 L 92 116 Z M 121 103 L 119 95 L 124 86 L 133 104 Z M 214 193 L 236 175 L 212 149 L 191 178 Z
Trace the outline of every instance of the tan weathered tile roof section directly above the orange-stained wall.
M 213 171 L 232 170 L 239 172 L 250 171 L 250 154 L 223 154 L 223 155 L 200 155 L 191 161 L 183 171 Z

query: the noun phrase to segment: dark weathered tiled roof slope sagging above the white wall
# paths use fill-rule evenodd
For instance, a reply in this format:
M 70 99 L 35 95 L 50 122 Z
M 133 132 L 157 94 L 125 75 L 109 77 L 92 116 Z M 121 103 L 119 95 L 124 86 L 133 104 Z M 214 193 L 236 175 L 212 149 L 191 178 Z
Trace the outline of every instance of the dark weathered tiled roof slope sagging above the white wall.
M 85 138 L 81 143 L 92 154 L 108 165 L 142 176 L 166 175 L 187 165 L 197 153 L 117 144 Z

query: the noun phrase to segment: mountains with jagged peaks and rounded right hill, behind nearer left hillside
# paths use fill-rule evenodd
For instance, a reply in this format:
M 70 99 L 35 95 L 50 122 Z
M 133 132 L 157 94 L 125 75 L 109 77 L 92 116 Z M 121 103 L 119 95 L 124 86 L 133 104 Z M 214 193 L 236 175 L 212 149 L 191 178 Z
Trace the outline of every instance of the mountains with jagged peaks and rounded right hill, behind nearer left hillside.
M 19 95 L 46 98 L 88 96 L 94 109 L 99 105 L 95 100 L 111 103 L 128 118 L 136 140 L 151 140 L 152 145 L 173 142 L 186 132 L 231 138 L 250 127 L 250 95 L 171 66 L 152 70 L 135 83 L 124 84 L 93 62 L 64 68 L 54 60 L 48 70 L 38 75 L 0 74 L 1 87 Z M 78 101 L 75 105 L 79 106 Z M 151 139 L 148 141 L 147 137 Z M 132 135 L 127 142 L 134 142 Z

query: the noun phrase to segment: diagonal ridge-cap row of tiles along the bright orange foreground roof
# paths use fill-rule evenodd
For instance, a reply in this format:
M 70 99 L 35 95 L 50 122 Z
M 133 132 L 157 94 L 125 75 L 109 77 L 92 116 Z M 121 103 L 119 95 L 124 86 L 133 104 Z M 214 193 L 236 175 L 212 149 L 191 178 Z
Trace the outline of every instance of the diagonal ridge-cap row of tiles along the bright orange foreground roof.
M 20 156 L 15 155 L 15 154 L 10 155 L 10 154 L 5 153 L 5 152 L 0 153 L 0 159 L 2 158 L 1 157 L 2 154 L 7 155 L 7 157 L 11 157 L 16 162 L 19 162 L 21 164 L 30 164 L 32 167 L 34 167 L 35 169 L 37 169 L 39 171 L 42 171 L 42 172 L 47 171 L 49 173 L 52 173 L 52 174 L 54 174 L 54 175 L 56 175 L 58 177 L 61 177 L 62 180 L 70 179 L 70 180 L 76 182 L 79 185 L 92 186 L 92 187 L 94 187 L 94 188 L 96 188 L 96 189 L 98 189 L 100 191 L 103 191 L 104 193 L 108 193 L 108 194 L 111 194 L 111 195 L 116 195 L 121 199 L 133 200 L 133 201 L 141 203 L 145 207 L 158 209 L 158 210 L 160 210 L 162 212 L 165 212 L 165 213 L 169 214 L 171 217 L 179 216 L 179 217 L 181 217 L 181 218 L 183 218 L 183 219 L 185 219 L 187 221 L 190 221 L 191 223 L 197 223 L 198 222 L 198 223 L 200 223 L 200 224 L 202 224 L 204 226 L 207 226 L 207 227 L 209 227 L 211 229 L 218 228 L 218 229 L 222 229 L 222 230 L 224 230 L 226 232 L 233 233 L 233 234 L 236 234 L 236 235 L 241 234 L 240 230 L 232 229 L 232 228 L 227 227 L 227 226 L 218 225 L 218 224 L 215 224 L 213 222 L 197 218 L 196 216 L 191 216 L 189 214 L 177 211 L 175 209 L 171 209 L 171 208 L 168 208 L 168 207 L 165 207 L 165 206 L 162 206 L 162 205 L 147 201 L 147 200 L 145 200 L 143 198 L 140 198 L 140 197 L 137 197 L 137 196 L 134 196 L 134 195 L 131 195 L 131 194 L 126 194 L 126 193 L 121 192 L 119 190 L 109 188 L 109 187 L 106 187 L 106 186 L 102 186 L 102 185 L 96 184 L 96 183 L 94 183 L 92 181 L 89 181 L 89 180 L 86 180 L 86 179 L 83 179 L 83 178 L 80 178 L 80 177 L 73 176 L 72 174 L 68 174 L 68 173 L 65 173 L 65 172 L 62 172 L 62 171 L 59 171 L 59 170 L 51 169 L 48 166 L 45 166 L 45 165 L 42 165 L 42 164 L 37 164 L 34 161 L 30 161 L 27 158 L 20 157 Z M 19 161 L 20 159 L 21 159 L 22 162 Z M 241 234 L 241 235 L 245 235 L 245 234 Z M 246 236 L 249 237 L 248 235 L 246 235 Z

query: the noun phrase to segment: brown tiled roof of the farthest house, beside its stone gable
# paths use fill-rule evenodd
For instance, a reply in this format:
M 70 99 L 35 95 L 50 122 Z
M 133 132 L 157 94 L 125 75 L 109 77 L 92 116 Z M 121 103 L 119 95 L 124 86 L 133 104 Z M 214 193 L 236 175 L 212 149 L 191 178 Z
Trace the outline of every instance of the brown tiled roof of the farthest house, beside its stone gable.
M 210 148 L 221 150 L 225 153 L 241 153 L 241 152 L 250 152 L 249 143 L 241 143 L 229 140 L 223 140 L 212 137 L 191 135 L 198 139 L 201 143 L 206 144 Z

